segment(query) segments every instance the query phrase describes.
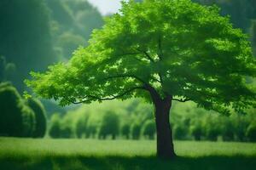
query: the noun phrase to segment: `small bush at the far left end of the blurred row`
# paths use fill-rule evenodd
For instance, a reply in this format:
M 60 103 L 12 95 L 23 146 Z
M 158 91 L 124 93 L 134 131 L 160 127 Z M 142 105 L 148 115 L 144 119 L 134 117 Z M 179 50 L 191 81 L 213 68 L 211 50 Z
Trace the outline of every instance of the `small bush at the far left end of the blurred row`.
M 61 138 L 61 116 L 58 113 L 50 117 L 49 136 Z

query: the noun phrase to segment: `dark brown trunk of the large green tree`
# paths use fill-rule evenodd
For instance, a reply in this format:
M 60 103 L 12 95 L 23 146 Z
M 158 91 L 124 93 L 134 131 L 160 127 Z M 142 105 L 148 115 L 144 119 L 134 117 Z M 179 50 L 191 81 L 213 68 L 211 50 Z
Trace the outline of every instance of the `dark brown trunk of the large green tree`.
M 154 99 L 155 123 L 157 133 L 157 156 L 173 158 L 176 156 L 172 142 L 172 127 L 169 121 L 172 97 Z

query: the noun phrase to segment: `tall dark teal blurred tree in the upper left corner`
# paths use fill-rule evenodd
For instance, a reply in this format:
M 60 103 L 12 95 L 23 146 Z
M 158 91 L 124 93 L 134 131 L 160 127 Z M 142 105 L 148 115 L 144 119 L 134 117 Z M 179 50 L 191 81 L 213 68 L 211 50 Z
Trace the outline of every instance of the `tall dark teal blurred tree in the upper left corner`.
M 11 81 L 20 92 L 30 71 L 44 71 L 56 61 L 44 1 L 1 0 L 0 38 L 0 54 L 16 65 Z

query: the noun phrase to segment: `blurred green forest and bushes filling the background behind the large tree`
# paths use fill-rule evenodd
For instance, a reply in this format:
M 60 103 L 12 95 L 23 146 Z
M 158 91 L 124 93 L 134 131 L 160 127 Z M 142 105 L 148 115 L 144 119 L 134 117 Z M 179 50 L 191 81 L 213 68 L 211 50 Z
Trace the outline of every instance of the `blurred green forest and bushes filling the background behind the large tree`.
M 234 26 L 247 33 L 256 55 L 255 0 L 194 1 L 217 4 L 221 14 L 229 14 Z M 87 45 L 93 29 L 101 28 L 103 18 L 86 0 L 0 1 L 0 135 L 154 139 L 152 106 L 141 99 L 76 105 L 73 109 L 46 100 L 42 100 L 43 106 L 37 100 L 38 113 L 38 107 L 20 95 L 29 91 L 23 81 L 30 71 L 45 71 L 51 64 L 70 59 L 76 48 Z M 197 109 L 194 103 L 175 105 L 182 108 L 174 106 L 172 110 L 175 139 L 256 140 L 255 111 L 226 117 Z M 12 128 L 17 122 L 20 127 Z

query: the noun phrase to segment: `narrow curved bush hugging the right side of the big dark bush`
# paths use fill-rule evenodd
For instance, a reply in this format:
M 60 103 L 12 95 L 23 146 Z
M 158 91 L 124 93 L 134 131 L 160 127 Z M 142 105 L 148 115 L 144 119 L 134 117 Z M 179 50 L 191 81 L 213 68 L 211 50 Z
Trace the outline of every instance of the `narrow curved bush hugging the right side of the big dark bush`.
M 34 138 L 43 138 L 46 132 L 46 114 L 44 111 L 44 105 L 37 99 L 27 99 L 26 105 L 28 105 L 35 113 L 36 127 L 32 134 Z

